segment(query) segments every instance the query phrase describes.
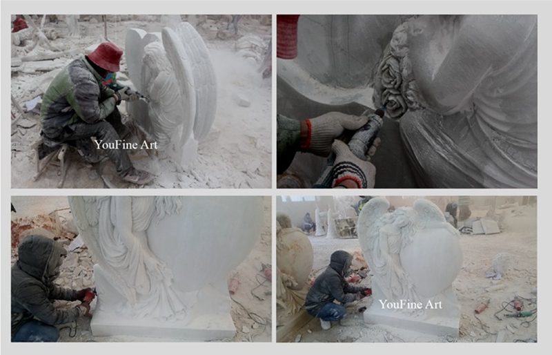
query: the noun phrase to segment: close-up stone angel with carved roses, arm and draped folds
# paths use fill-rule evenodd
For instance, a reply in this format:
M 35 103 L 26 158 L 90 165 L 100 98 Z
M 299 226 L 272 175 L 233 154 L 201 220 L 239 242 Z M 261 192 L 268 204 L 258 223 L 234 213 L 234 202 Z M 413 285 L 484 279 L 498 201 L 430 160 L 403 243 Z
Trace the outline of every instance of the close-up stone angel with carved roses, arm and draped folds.
M 421 187 L 537 186 L 537 16 L 415 16 L 398 26 L 373 102 L 400 119 Z

